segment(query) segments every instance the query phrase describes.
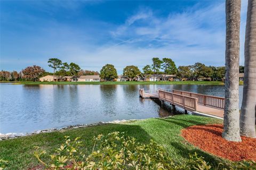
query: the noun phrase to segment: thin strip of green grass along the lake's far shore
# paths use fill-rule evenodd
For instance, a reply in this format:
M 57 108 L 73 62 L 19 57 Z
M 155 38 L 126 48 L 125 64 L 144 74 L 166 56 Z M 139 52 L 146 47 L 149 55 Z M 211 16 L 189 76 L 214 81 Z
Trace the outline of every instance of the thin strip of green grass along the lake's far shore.
M 202 84 L 202 85 L 224 85 L 222 81 L 103 81 L 103 82 L 40 82 L 40 81 L 20 81 L 13 84 Z

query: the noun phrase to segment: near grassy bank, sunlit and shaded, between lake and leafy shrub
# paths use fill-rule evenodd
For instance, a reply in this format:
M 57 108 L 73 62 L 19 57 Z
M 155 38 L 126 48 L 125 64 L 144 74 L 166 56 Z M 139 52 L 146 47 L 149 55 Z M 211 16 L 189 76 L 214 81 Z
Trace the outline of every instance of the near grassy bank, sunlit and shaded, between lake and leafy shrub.
M 68 135 L 71 138 L 81 137 L 83 144 L 90 148 L 92 147 L 91 139 L 94 135 L 119 131 L 126 132 L 127 135 L 137 138 L 142 143 L 148 143 L 150 139 L 154 139 L 157 143 L 163 145 L 177 162 L 186 162 L 188 154 L 197 152 L 204 156 L 207 162 L 215 165 L 221 162 L 227 165 L 230 163 L 227 160 L 195 148 L 180 136 L 180 130 L 188 126 L 221 122 L 221 120 L 214 118 L 177 115 L 169 118 L 149 118 L 122 124 L 103 124 L 65 132 L 37 134 L 30 137 L 0 141 L 0 158 L 9 161 L 7 169 L 26 169 L 38 165 L 36 158 L 33 156 L 34 146 L 40 146 L 47 152 L 53 153 L 54 149 L 63 143 L 63 137 Z

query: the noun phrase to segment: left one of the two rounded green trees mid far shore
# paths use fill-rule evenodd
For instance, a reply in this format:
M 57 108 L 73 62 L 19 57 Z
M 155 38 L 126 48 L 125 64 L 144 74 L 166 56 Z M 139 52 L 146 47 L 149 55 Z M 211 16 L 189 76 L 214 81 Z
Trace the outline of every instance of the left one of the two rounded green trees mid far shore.
M 117 79 L 117 72 L 114 65 L 106 64 L 103 66 L 100 70 L 100 78 L 107 81 L 113 81 L 114 79 Z

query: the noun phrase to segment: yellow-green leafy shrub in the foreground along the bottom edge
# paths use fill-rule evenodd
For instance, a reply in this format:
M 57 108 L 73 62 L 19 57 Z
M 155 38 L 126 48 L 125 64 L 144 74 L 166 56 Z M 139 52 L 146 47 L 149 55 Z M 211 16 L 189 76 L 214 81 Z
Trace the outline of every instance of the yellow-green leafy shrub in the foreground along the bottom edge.
M 148 145 L 141 144 L 124 133 L 112 132 L 99 134 L 93 138 L 91 154 L 83 154 L 79 138 L 66 142 L 50 155 L 50 163 L 42 160 L 45 150 L 35 147 L 34 155 L 45 166 L 45 169 L 213 169 L 196 153 L 189 155 L 186 164 L 181 165 L 172 160 L 165 149 L 153 140 Z M 89 150 L 87 148 L 87 150 Z

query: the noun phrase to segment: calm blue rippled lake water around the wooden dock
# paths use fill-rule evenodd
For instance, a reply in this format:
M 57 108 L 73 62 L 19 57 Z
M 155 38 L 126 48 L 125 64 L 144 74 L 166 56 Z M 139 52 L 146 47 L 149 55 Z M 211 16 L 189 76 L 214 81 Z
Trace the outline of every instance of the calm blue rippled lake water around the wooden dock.
M 169 104 L 139 98 L 139 89 L 178 89 L 224 96 L 224 86 L 203 85 L 13 85 L 0 83 L 0 133 L 26 133 L 99 121 L 181 114 Z M 239 87 L 242 99 L 243 87 Z

